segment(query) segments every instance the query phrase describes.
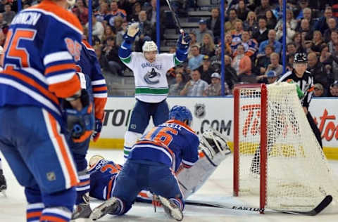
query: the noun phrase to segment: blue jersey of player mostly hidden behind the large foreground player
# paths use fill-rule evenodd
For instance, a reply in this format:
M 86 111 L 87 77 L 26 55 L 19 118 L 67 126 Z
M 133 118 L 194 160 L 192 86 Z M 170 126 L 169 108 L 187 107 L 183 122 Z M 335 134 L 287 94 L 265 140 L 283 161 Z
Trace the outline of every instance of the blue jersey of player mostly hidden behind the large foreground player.
M 87 89 L 89 96 L 94 100 L 95 118 L 104 118 L 104 107 L 107 101 L 107 85 L 101 72 L 94 48 L 87 41 L 82 40 L 80 60 L 76 62 L 77 73 L 80 77 L 81 88 Z

